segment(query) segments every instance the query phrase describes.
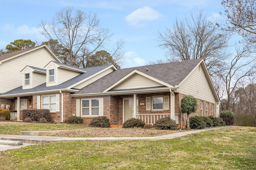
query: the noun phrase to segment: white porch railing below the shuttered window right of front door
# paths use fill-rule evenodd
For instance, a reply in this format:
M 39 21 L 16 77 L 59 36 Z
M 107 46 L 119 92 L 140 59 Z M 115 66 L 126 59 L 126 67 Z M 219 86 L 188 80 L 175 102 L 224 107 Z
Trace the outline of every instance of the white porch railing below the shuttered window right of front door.
M 171 117 L 170 113 L 161 113 L 161 114 L 136 114 L 136 119 L 140 119 L 144 121 L 146 124 L 153 125 L 156 123 L 158 119 L 164 118 L 164 117 Z

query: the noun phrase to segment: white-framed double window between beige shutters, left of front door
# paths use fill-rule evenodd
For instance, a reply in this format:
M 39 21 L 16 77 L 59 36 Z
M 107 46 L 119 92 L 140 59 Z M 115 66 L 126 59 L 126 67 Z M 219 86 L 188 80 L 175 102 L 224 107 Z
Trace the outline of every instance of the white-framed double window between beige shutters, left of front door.
M 99 99 L 82 100 L 82 116 L 98 116 Z

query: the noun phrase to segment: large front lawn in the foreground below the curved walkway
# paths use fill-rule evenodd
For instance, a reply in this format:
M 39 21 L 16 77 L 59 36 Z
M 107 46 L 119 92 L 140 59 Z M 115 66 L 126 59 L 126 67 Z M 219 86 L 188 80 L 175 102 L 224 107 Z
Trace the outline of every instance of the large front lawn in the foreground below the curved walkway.
M 170 140 L 46 143 L 0 152 L 0 168 L 255 170 L 256 128 L 233 127 Z

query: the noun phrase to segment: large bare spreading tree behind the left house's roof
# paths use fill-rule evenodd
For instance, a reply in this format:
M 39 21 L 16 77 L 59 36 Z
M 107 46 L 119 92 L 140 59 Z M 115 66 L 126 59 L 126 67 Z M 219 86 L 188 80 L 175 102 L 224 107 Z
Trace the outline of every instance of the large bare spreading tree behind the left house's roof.
M 73 12 L 72 7 L 58 12 L 51 23 L 42 21 L 40 26 L 43 30 L 41 33 L 46 38 L 56 39 L 63 45 L 68 53 L 65 64 L 71 66 L 84 67 L 86 58 L 104 48 L 112 37 L 108 29 L 100 28 L 100 20 L 96 14 L 86 14 L 80 10 Z M 119 41 L 113 54 L 118 54 L 123 44 L 122 40 Z M 121 59 L 122 57 L 120 56 Z

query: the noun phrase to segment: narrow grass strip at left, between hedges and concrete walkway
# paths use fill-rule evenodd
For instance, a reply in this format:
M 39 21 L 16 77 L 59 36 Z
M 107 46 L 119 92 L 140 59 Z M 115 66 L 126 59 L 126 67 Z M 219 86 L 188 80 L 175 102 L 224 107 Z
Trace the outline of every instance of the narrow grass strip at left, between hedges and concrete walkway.
M 20 135 L 22 131 L 49 131 L 49 130 L 68 130 L 68 129 L 88 129 L 90 127 L 68 124 L 50 123 L 22 123 L 22 122 L 0 122 L 0 134 Z

